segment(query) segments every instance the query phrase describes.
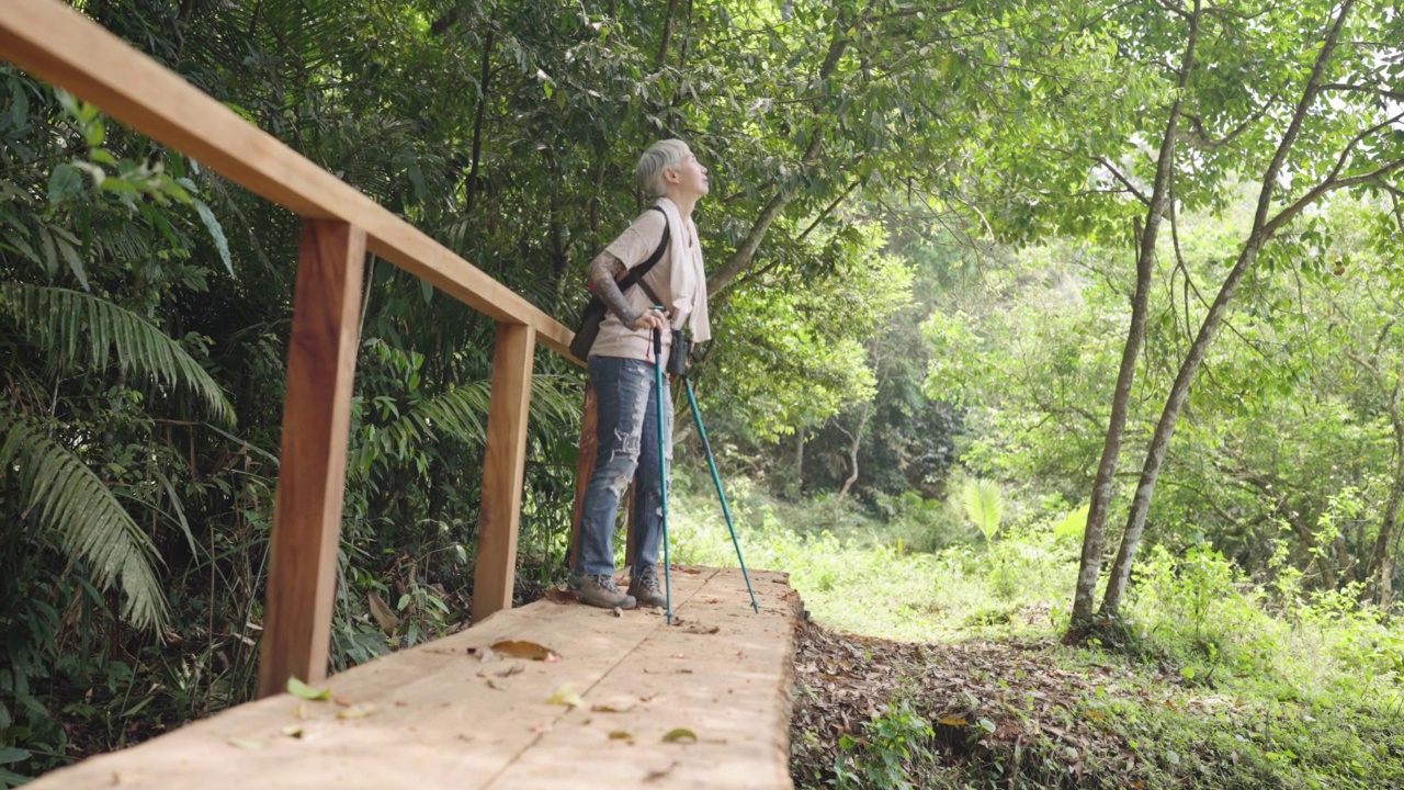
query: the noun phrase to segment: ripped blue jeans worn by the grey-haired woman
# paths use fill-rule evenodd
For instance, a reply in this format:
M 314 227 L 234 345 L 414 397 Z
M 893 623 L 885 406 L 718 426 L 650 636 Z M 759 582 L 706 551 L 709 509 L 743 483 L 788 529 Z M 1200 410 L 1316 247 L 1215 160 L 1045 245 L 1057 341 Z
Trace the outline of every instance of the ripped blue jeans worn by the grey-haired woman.
M 664 454 L 658 453 L 658 402 L 653 363 L 618 357 L 590 357 L 590 382 L 595 388 L 598 448 L 595 471 L 585 488 L 580 514 L 580 547 L 573 571 L 584 576 L 614 574 L 614 529 L 619 500 L 635 471 L 633 512 L 635 568 L 658 562 L 663 541 Z M 664 388 L 667 377 L 664 375 Z M 663 392 L 664 405 L 671 399 Z M 673 409 L 663 409 L 664 446 L 673 455 Z

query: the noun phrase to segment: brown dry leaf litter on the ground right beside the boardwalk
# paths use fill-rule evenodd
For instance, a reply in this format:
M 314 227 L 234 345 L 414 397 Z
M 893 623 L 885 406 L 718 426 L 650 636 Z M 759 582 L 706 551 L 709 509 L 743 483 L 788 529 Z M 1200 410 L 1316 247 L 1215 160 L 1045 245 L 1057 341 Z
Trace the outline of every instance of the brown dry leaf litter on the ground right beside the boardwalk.
M 1122 686 L 1123 672 L 1111 665 L 1064 669 L 1047 654 L 1054 647 L 1052 640 L 894 642 L 804 621 L 795 633 L 795 687 L 806 693 L 796 693 L 790 715 L 792 770 L 833 776 L 840 739 L 862 738 L 863 724 L 889 713 L 889 701 L 900 693 L 932 723 L 935 745 L 952 763 L 1018 759 L 1019 753 L 1028 759 L 1035 753 L 1031 744 L 1050 742 L 1080 782 L 1088 760 L 1097 759 L 1104 773 L 1116 775 L 1113 766 L 1123 765 L 1127 773 L 1115 779 L 1125 779 L 1119 786 L 1134 786 L 1129 776 L 1134 749 L 1105 715 L 1091 715 L 1087 700 L 1098 690 L 1153 692 Z M 1178 678 L 1167 675 L 1164 687 L 1172 701 L 1168 696 Z M 1213 700 L 1192 704 L 1209 711 Z

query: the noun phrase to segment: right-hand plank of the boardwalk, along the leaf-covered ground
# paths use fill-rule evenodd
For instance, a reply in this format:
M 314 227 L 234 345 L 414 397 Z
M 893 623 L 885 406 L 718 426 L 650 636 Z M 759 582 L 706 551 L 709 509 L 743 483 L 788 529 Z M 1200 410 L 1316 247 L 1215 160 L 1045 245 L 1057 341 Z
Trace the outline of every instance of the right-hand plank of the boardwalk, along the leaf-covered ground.
M 489 789 L 580 784 L 590 787 L 790 787 L 789 714 L 799 596 L 778 574 L 761 572 L 760 616 L 740 571 L 708 575 L 701 590 L 678 596 L 682 621 L 661 628 L 588 690 L 539 744 Z M 775 595 L 776 582 L 785 582 Z M 688 588 L 687 574 L 673 574 Z M 713 631 L 715 630 L 715 631 Z M 687 730 L 695 742 L 664 742 Z M 626 737 L 625 737 L 626 735 Z

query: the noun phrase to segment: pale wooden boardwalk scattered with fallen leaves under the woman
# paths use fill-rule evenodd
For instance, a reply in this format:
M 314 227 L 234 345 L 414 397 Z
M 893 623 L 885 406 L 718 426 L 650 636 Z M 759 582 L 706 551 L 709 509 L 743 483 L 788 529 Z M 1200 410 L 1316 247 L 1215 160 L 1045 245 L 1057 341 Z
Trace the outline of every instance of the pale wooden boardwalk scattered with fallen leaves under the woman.
M 751 582 L 760 614 L 739 571 L 675 571 L 671 628 L 574 602 L 504 610 L 330 678 L 331 700 L 267 697 L 28 787 L 790 787 L 799 597 L 782 574 Z M 559 659 L 484 661 L 507 640 Z M 550 701 L 570 690 L 578 706 Z

